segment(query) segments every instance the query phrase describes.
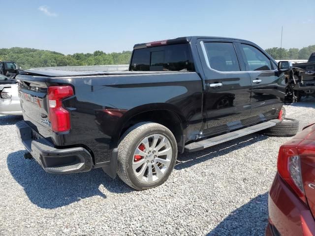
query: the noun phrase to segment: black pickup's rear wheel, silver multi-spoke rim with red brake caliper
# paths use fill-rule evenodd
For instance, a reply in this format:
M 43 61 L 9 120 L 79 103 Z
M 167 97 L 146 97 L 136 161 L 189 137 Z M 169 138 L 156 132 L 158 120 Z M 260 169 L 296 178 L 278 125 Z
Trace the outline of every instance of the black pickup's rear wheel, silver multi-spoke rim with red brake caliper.
M 118 176 L 136 190 L 164 183 L 174 169 L 177 144 L 165 126 L 141 122 L 130 127 L 118 145 Z

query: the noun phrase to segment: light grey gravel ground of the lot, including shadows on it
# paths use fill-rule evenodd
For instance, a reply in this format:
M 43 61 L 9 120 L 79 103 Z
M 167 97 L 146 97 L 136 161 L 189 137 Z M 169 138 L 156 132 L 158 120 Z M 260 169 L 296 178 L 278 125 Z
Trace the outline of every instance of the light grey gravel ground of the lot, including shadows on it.
M 285 106 L 300 128 L 315 100 Z M 96 169 L 51 175 L 24 160 L 16 116 L 0 116 L 0 235 L 263 235 L 279 146 L 248 135 L 184 153 L 161 186 L 134 191 Z

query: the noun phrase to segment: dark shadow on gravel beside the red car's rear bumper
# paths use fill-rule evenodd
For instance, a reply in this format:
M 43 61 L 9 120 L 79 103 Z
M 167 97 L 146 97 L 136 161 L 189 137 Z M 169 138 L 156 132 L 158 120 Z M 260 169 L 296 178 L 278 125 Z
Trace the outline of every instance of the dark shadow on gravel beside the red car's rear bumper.
M 208 236 L 264 235 L 268 223 L 268 192 L 230 213 Z

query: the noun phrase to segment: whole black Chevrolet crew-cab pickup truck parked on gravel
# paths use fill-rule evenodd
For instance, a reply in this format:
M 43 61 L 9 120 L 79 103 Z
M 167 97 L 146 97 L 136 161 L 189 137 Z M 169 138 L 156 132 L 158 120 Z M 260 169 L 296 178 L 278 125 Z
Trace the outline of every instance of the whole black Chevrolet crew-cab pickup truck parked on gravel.
M 252 42 L 190 36 L 136 44 L 126 72 L 27 70 L 18 135 L 46 172 L 103 168 L 147 189 L 178 152 L 275 126 L 289 69 Z

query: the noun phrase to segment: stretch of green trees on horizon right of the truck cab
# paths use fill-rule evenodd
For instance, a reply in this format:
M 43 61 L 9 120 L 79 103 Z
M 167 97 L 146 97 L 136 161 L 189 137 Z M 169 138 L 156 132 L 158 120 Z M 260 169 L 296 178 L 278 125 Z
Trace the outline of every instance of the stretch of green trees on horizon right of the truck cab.
M 309 59 L 311 54 L 315 52 L 315 45 L 310 45 L 301 49 L 267 48 L 266 52 L 275 60 Z

